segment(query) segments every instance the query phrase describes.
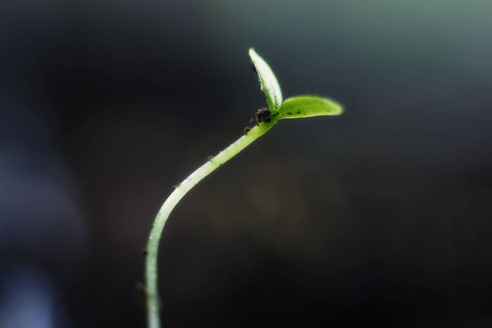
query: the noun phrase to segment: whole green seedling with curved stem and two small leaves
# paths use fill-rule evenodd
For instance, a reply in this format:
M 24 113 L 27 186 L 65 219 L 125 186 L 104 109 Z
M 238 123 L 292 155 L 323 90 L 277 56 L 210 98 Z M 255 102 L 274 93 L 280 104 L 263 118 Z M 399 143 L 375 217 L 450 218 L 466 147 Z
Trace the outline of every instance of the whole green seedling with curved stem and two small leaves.
M 166 199 L 155 216 L 154 224 L 149 235 L 145 261 L 145 287 L 147 294 L 147 324 L 149 328 L 160 327 L 160 301 L 157 294 L 157 251 L 159 240 L 169 214 L 183 196 L 201 179 L 208 176 L 215 169 L 245 149 L 256 138 L 265 134 L 280 119 L 297 119 L 311 116 L 340 115 L 343 108 L 337 102 L 315 95 L 301 95 L 287 98 L 282 101 L 282 92 L 277 78 L 263 58 L 252 48 L 249 49 L 249 58 L 258 73 L 261 90 L 265 93 L 268 108 L 260 109 L 255 114 L 252 128 L 246 128 L 245 134 L 232 145 L 220 151 L 216 156 L 200 166 L 189 177 L 175 187 L 175 190 Z

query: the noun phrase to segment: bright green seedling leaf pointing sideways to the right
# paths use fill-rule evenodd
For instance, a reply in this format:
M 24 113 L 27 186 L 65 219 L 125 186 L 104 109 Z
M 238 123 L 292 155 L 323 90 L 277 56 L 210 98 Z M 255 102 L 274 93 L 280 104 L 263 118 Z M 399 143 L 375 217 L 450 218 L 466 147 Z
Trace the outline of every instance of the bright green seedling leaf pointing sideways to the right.
M 285 99 L 278 108 L 278 119 L 297 119 L 320 115 L 340 115 L 343 107 L 336 101 L 325 97 L 302 95 Z

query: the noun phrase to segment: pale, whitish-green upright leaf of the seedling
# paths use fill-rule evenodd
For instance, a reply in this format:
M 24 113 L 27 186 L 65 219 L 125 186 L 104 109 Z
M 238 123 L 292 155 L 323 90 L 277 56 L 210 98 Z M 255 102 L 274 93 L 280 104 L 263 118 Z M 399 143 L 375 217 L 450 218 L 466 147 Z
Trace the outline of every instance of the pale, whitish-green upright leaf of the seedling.
M 249 58 L 253 62 L 256 72 L 258 73 L 261 90 L 265 93 L 265 97 L 267 98 L 268 109 L 271 111 L 277 109 L 282 103 L 282 91 L 280 90 L 274 72 L 253 48 L 249 48 Z

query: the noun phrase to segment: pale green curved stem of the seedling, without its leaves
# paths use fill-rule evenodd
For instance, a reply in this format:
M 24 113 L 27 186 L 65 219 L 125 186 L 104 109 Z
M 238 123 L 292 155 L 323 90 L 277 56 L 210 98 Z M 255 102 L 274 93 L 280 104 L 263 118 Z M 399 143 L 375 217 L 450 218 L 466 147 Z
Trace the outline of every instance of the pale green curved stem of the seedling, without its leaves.
M 260 123 L 260 126 L 255 126 L 244 136 L 239 138 L 235 143 L 219 152 L 214 158 L 207 161 L 193 172 L 188 178 L 184 179 L 181 184 L 171 193 L 160 208 L 157 216 L 154 219 L 149 241 L 147 243 L 147 258 L 145 262 L 145 285 L 147 290 L 147 324 L 149 328 L 159 328 L 159 309 L 160 301 L 157 293 L 157 252 L 159 248 L 159 240 L 162 235 L 162 230 L 166 223 L 169 214 L 174 209 L 176 204 L 183 196 L 201 179 L 208 176 L 216 168 L 231 159 L 234 155 L 245 149 L 256 138 L 263 135 L 265 132 L 276 123 L 276 119 L 272 119 L 269 123 Z

